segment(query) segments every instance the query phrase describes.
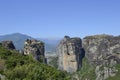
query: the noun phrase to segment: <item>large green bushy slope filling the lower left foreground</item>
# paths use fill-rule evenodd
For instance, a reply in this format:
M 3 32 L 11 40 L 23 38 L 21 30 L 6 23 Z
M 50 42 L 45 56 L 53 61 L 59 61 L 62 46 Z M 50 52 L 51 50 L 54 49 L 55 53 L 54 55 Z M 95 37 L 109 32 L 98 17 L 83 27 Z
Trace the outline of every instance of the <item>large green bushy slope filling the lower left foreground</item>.
M 70 80 L 66 72 L 0 46 L 0 75 L 8 80 Z M 0 76 L 0 77 L 1 77 Z

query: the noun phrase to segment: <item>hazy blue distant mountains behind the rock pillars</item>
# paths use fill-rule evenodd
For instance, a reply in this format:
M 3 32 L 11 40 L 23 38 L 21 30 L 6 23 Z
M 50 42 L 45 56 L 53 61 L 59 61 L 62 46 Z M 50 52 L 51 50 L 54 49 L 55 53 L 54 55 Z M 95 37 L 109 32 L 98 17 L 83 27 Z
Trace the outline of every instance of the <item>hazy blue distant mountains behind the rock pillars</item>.
M 13 33 L 13 34 L 0 36 L 0 41 L 3 41 L 3 40 L 13 41 L 16 49 L 18 50 L 23 49 L 24 42 L 26 39 L 37 39 L 37 40 L 43 41 L 45 43 L 46 52 L 54 52 L 56 49 L 56 46 L 61 40 L 61 39 L 51 39 L 51 38 L 33 38 L 31 36 L 21 34 L 21 33 Z

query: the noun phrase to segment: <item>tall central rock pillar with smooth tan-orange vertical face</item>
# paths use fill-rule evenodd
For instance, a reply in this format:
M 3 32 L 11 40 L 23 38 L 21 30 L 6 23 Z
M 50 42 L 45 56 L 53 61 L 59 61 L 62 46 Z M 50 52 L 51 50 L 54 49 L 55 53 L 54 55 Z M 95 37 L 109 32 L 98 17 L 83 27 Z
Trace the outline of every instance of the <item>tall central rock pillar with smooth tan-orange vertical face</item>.
M 85 55 L 80 38 L 65 36 L 58 45 L 59 69 L 67 72 L 76 72 L 82 66 L 82 58 Z

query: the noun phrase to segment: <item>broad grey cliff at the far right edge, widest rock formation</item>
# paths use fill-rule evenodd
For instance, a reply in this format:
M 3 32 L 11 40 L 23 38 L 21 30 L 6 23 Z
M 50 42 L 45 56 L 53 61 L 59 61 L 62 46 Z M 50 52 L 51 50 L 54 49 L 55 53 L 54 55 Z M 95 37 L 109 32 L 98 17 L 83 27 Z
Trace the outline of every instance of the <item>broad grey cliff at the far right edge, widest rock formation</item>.
M 89 62 L 96 67 L 96 80 L 105 80 L 115 76 L 116 64 L 120 64 L 120 37 L 110 35 L 88 36 L 83 46 Z

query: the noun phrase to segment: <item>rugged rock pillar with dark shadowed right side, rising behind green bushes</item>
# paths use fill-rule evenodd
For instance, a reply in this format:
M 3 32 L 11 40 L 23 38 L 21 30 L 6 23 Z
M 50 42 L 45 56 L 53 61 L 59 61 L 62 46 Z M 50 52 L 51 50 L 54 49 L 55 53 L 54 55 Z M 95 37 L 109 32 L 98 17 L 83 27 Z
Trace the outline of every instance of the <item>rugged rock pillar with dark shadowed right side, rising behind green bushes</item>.
M 32 54 L 36 60 L 40 60 L 41 58 L 44 59 L 44 43 L 27 39 L 24 44 L 24 54 Z

